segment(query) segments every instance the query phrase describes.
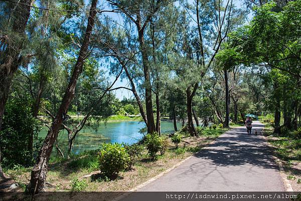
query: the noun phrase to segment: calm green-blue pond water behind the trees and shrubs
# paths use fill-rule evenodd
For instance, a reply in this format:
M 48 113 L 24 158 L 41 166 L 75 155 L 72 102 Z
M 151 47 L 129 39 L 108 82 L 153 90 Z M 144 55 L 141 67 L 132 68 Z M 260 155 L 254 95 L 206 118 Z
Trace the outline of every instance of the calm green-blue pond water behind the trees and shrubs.
M 135 143 L 141 139 L 142 134 L 138 131 L 144 126 L 144 122 L 119 121 L 101 123 L 97 128 L 84 127 L 76 136 L 73 153 L 78 154 L 84 150 L 97 149 L 104 142 Z M 177 126 L 181 128 L 180 123 Z M 48 128 L 43 128 L 39 137 L 45 138 L 47 131 Z M 162 133 L 174 132 L 173 122 L 161 121 L 161 131 Z M 59 133 L 58 144 L 62 150 L 67 149 L 68 135 L 66 130 Z

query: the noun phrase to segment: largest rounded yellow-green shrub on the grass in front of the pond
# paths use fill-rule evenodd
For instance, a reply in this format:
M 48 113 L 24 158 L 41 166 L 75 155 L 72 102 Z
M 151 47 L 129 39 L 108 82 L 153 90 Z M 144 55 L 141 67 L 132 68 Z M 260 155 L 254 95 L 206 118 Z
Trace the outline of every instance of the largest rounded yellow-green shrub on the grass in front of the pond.
M 104 143 L 100 148 L 98 161 L 102 174 L 111 176 L 128 167 L 130 156 L 121 144 Z

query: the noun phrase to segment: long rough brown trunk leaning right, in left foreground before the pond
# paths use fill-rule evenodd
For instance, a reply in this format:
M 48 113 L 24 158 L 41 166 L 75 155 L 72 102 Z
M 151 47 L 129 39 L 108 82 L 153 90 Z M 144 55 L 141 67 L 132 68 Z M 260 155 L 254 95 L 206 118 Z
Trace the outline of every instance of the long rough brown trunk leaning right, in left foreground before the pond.
M 39 152 L 39 156 L 37 158 L 37 163 L 33 167 L 31 172 L 31 180 L 30 185 L 28 186 L 29 192 L 35 194 L 44 190 L 44 185 L 47 177 L 47 167 L 48 161 L 50 158 L 50 154 L 52 152 L 53 144 L 57 139 L 59 128 L 63 121 L 63 114 L 67 113 L 69 104 L 71 103 L 74 93 L 75 87 L 78 80 L 79 75 L 82 72 L 84 60 L 87 57 L 87 51 L 90 43 L 90 37 L 92 34 L 92 30 L 95 23 L 96 18 L 96 9 L 97 0 L 92 0 L 89 19 L 87 24 L 87 29 L 85 32 L 84 40 L 82 42 L 82 46 L 77 58 L 77 62 L 75 64 L 74 70 L 72 72 L 72 77 L 70 79 L 69 85 L 65 91 L 65 95 L 63 97 L 61 106 L 58 110 L 58 113 L 52 122 L 51 128 L 48 131 L 48 134 L 44 140 L 44 143 Z

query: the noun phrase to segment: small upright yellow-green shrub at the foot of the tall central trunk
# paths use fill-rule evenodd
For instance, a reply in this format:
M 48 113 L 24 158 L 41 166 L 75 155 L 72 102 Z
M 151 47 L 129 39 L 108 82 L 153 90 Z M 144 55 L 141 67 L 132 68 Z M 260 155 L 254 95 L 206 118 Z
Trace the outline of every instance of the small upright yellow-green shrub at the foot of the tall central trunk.
M 145 145 L 152 160 L 156 158 L 157 152 L 162 149 L 162 141 L 162 138 L 156 132 L 153 134 L 148 133 L 145 136 Z

